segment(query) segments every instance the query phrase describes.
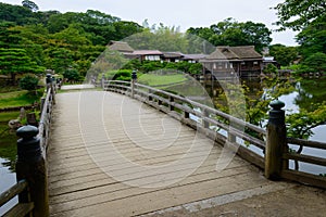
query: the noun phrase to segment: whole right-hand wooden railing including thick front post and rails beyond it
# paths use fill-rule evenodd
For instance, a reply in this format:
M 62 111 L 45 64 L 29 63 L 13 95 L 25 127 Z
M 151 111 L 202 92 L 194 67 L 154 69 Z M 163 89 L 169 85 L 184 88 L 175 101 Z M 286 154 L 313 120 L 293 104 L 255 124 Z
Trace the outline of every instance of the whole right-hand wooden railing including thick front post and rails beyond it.
M 289 169 L 289 159 L 321 166 L 326 166 L 326 159 L 325 157 L 291 153 L 287 142 L 322 150 L 326 150 L 326 144 L 299 139 L 287 139 L 284 111 L 279 105 L 275 105 L 275 107 L 271 105 L 274 108 L 269 113 L 271 117 L 267 130 L 265 130 L 213 107 L 149 86 L 117 80 L 103 81 L 102 85 L 104 90 L 130 95 L 205 133 L 220 144 L 226 145 L 228 149 L 237 152 L 242 158 L 265 169 L 265 176 L 269 179 L 286 178 L 326 188 L 325 177 Z M 192 118 L 191 115 L 193 115 Z M 200 123 L 195 119 L 199 119 Z M 244 143 L 249 144 L 249 148 L 243 145 Z M 253 146 L 254 149 L 252 149 Z

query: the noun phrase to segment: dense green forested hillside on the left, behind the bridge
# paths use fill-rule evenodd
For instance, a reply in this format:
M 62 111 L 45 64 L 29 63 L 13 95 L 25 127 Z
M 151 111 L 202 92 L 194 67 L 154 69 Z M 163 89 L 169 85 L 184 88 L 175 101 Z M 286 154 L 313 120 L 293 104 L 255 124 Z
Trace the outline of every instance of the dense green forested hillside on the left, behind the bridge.
M 32 1 L 0 3 L 0 71 L 14 78 L 46 68 L 55 73 L 74 68 L 85 76 L 110 40 L 139 31 L 142 27 L 137 23 L 99 11 L 41 12 Z

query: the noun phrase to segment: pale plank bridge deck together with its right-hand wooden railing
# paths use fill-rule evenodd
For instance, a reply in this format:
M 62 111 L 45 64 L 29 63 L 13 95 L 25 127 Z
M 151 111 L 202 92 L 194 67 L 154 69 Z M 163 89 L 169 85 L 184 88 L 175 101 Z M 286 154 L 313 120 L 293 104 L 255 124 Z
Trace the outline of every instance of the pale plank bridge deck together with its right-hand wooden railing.
M 324 143 L 281 140 L 281 133 L 279 138 L 271 137 L 277 126 L 266 132 L 147 86 L 120 81 L 104 84 L 104 89 L 110 91 L 73 91 L 55 97 L 50 144 L 43 148 L 48 150 L 51 216 L 197 212 L 293 186 L 265 177 L 326 186 L 324 177 L 287 166 L 289 159 L 326 166 L 325 158 L 285 152 L 287 141 L 326 150 Z M 212 126 L 226 130 L 226 135 Z M 239 126 L 258 137 L 241 132 Z M 266 152 L 265 156 L 239 141 L 250 142 L 263 154 Z M 268 142 L 280 146 L 269 149 Z

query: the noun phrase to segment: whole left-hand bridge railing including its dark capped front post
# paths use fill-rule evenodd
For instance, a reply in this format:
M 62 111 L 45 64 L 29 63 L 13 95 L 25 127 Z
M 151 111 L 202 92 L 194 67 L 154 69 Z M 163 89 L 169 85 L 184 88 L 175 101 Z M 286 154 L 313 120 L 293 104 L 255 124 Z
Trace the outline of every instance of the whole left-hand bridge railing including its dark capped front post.
M 54 85 L 48 84 L 47 95 L 41 100 L 38 128 L 23 126 L 17 130 L 17 183 L 0 195 L 0 206 L 18 195 L 18 204 L 3 216 L 49 216 L 46 156 L 50 137 L 52 106 L 55 103 Z

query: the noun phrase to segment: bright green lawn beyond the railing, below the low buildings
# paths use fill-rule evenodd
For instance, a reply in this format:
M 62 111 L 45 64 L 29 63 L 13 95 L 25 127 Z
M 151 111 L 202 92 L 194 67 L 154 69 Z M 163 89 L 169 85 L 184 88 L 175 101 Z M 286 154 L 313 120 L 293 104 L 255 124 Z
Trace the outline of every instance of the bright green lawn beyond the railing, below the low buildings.
M 143 74 L 138 78 L 138 82 L 152 86 L 152 87 L 168 86 L 168 85 L 179 84 L 187 80 L 188 78 L 183 74 L 172 74 L 172 75 Z

